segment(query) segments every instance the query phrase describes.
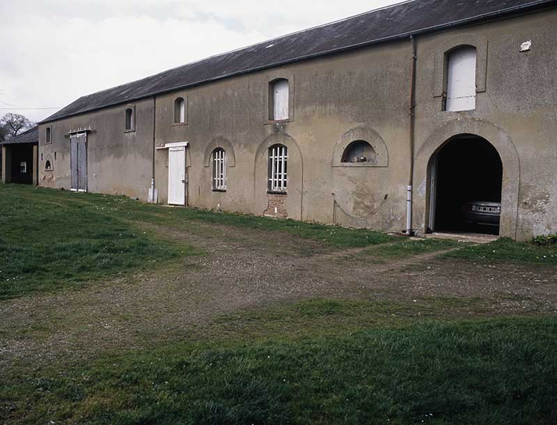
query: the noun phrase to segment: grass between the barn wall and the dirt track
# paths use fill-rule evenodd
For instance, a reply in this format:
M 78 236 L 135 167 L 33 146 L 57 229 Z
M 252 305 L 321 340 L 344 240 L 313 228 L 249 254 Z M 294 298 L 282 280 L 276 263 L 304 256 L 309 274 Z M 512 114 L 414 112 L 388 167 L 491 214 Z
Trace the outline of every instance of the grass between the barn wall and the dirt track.
M 153 268 L 196 254 L 146 224 L 184 228 L 192 221 L 283 232 L 331 249 L 376 246 L 379 261 L 464 247 L 453 241 L 407 240 L 368 229 L 270 219 L 194 208 L 164 208 L 125 196 L 77 194 L 0 184 L 0 300 Z M 501 239 L 469 246 L 442 258 L 483 262 L 557 264 L 557 245 Z

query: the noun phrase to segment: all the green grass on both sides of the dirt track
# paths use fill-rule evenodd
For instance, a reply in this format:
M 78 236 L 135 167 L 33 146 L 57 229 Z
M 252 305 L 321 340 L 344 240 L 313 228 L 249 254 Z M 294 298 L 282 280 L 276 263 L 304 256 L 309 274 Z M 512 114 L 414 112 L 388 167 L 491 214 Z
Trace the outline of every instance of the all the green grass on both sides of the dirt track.
M 440 254 L 450 265 L 552 266 L 557 257 L 554 245 L 409 240 L 0 185 L 0 299 L 8 305 L 11 297 L 79 288 L 199 254 L 159 230 L 187 231 L 201 222 L 262 237 L 288 233 L 331 251 L 369 246 L 356 253 L 358 261 L 453 248 Z M 105 348 L 86 360 L 14 357 L 0 371 L 0 424 L 555 424 L 557 319 L 463 319 L 489 317 L 496 303 L 306 300 L 234 311 L 180 330 L 180 337 L 157 339 L 159 330 L 149 329 L 141 350 Z M 42 341 L 33 338 L 52 341 L 72 325 L 49 323 L 45 332 L 52 334 L 15 338 L 22 346 L 6 349 L 25 353 L 25 343 Z

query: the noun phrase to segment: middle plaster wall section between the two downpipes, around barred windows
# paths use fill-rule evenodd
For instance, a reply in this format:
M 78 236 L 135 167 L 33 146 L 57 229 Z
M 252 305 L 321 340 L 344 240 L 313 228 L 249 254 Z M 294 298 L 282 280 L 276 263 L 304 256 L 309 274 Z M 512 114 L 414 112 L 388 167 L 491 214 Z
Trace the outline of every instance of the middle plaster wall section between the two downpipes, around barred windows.
M 157 145 L 189 141 L 189 205 L 261 215 L 269 203 L 267 148 L 281 143 L 289 156 L 288 217 L 400 230 L 409 155 L 409 55 L 409 43 L 398 42 L 159 96 Z M 269 123 L 267 86 L 281 77 L 290 81 L 293 114 L 288 122 Z M 173 125 L 178 96 L 188 99 L 187 125 Z M 350 130 L 354 137 L 374 137 L 370 143 L 381 149 L 377 166 L 333 164 L 336 146 Z M 219 140 L 233 146 L 235 157 L 228 164 L 226 192 L 212 191 L 211 167 L 205 167 Z M 168 153 L 156 155 L 164 202 Z

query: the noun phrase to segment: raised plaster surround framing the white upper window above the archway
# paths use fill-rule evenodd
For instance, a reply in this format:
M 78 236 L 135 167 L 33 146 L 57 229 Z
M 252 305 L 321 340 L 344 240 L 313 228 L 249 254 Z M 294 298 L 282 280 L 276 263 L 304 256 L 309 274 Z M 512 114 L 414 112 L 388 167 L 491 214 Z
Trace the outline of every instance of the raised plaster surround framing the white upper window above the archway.
M 476 47 L 476 93 L 486 89 L 487 81 L 487 37 L 478 34 L 460 34 L 440 42 L 433 52 L 434 98 L 441 98 L 447 86 L 447 57 L 457 47 Z

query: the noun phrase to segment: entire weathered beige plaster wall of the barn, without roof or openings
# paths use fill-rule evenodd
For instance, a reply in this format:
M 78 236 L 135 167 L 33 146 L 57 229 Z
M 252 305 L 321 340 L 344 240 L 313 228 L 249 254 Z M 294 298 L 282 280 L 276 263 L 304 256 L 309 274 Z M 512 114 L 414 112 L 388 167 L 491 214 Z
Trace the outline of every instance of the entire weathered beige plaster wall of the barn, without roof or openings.
M 501 235 L 526 239 L 557 232 L 557 12 L 418 36 L 416 69 L 416 169 L 414 228 L 425 231 L 429 212 L 430 157 L 457 134 L 485 137 L 503 160 Z M 532 40 L 530 52 L 521 42 Z M 476 45 L 476 109 L 442 111 L 444 54 Z M 190 206 L 261 215 L 269 211 L 266 149 L 288 146 L 288 196 L 283 208 L 295 219 L 386 231 L 405 228 L 409 178 L 409 40 L 233 77 L 156 98 L 158 147 L 188 141 L 187 198 Z M 290 82 L 290 119 L 268 121 L 268 84 Z M 187 100 L 187 121 L 173 123 L 173 103 Z M 134 102 L 136 132 L 123 132 L 126 105 L 49 123 L 53 144 L 44 144 L 42 164 L 56 151 L 52 176 L 40 184 L 69 187 L 69 141 L 61 135 L 91 127 L 89 190 L 146 199 L 152 167 L 153 100 Z M 354 139 L 374 146 L 375 164 L 346 166 L 339 155 Z M 210 153 L 228 155 L 226 192 L 213 192 Z M 473 167 L 473 164 L 471 164 Z M 168 151 L 156 150 L 159 202 L 168 187 Z M 271 199 L 276 202 L 275 199 Z

